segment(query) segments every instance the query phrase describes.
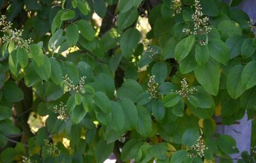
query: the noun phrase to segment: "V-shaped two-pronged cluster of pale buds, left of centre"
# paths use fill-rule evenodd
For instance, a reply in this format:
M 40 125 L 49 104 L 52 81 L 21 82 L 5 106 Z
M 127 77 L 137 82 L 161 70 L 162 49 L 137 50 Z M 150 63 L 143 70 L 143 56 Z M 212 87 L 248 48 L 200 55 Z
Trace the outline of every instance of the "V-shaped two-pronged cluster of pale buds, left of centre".
M 75 86 L 73 81 L 70 79 L 70 77 L 68 77 L 67 74 L 63 77 L 63 81 L 65 82 L 65 84 L 67 86 L 67 91 L 76 91 L 77 93 L 79 93 L 81 91 L 81 89 L 83 88 L 83 86 L 85 84 L 85 79 L 86 79 L 85 76 L 81 77 L 77 86 Z

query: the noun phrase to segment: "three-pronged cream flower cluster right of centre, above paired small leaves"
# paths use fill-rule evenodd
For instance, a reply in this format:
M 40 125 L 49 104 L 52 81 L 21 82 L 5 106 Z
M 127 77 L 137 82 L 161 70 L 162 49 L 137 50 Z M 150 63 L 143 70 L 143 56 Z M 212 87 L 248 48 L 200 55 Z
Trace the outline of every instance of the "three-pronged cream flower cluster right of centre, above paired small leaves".
M 193 93 L 195 91 L 197 91 L 196 88 L 188 88 L 188 82 L 186 81 L 186 79 L 182 79 L 182 81 L 180 81 L 181 83 L 181 90 L 176 90 L 175 93 L 178 93 L 182 98 L 187 98 L 189 100 L 189 95 L 193 95 Z M 173 92 L 173 90 L 171 90 Z

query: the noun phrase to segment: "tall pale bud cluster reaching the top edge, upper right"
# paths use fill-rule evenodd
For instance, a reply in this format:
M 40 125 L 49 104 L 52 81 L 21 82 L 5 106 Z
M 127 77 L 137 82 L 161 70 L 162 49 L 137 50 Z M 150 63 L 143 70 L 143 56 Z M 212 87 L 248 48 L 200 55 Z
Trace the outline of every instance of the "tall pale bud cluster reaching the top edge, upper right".
M 209 17 L 204 17 L 202 12 L 202 7 L 199 0 L 195 0 L 195 13 L 192 14 L 192 19 L 194 21 L 194 29 L 191 31 L 190 29 L 182 29 L 184 33 L 189 33 L 189 35 L 203 35 L 207 34 L 211 31 L 211 27 L 209 27 Z M 203 42 L 200 45 L 205 45 Z

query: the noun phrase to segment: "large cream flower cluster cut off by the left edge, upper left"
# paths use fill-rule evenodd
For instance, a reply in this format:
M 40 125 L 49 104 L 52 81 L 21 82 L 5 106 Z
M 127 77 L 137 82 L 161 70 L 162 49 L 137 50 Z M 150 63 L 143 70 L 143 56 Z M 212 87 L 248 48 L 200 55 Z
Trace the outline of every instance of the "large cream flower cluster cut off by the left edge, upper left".
M 0 17 L 0 27 L 1 32 L 6 33 L 7 35 L 3 35 L 1 38 L 3 42 L 13 42 L 16 47 L 28 47 L 31 44 L 32 40 L 29 38 L 28 40 L 23 40 L 21 38 L 23 30 L 20 29 L 12 29 L 12 22 L 6 21 L 6 16 L 1 15 Z

